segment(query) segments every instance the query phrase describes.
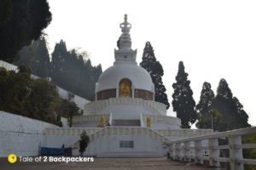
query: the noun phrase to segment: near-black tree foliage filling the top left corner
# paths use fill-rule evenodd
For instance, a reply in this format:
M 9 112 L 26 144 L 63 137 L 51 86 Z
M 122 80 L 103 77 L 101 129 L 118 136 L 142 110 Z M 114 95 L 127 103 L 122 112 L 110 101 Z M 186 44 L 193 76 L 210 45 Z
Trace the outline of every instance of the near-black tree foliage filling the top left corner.
M 20 48 L 38 39 L 50 21 L 47 0 L 1 0 L 0 59 L 13 62 Z

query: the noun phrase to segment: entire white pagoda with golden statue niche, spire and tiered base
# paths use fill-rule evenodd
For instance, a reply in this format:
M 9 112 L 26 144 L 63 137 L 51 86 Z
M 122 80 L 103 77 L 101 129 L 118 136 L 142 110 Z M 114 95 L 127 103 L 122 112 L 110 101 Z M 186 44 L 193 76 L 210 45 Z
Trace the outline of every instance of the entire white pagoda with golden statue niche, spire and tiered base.
M 154 83 L 137 65 L 131 48 L 131 24 L 120 24 L 119 48 L 113 66 L 96 82 L 96 101 L 84 105 L 84 115 L 73 117 L 73 127 L 44 130 L 46 147 L 73 147 L 79 155 L 79 138 L 85 130 L 90 144 L 85 156 L 164 156 L 163 143 L 212 133 L 211 129 L 181 129 L 180 119 L 166 115 L 166 105 L 154 100 Z

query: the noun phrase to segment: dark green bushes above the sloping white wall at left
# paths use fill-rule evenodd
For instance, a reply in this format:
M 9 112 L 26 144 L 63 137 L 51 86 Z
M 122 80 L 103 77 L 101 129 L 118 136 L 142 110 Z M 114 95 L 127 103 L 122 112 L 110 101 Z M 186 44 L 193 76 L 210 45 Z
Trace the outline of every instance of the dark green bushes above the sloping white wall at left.
M 78 107 L 63 101 L 55 84 L 45 79 L 32 79 L 26 66 L 19 71 L 6 71 L 0 67 L 0 110 L 27 116 L 44 122 L 58 124 L 56 116 L 67 113 L 78 115 Z M 64 103 L 63 103 L 64 102 Z M 69 107 L 72 105 L 72 107 Z

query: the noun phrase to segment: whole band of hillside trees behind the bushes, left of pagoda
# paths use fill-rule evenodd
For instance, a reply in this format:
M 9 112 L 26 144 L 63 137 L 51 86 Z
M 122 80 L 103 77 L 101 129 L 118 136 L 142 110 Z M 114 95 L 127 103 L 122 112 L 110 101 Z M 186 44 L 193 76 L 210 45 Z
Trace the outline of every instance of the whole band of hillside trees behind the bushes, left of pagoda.
M 33 75 L 50 77 L 56 85 L 84 99 L 95 99 L 95 85 L 102 74 L 102 66 L 92 66 L 86 52 L 67 50 L 66 42 L 55 44 L 49 60 L 49 51 L 44 37 L 20 49 L 15 65 L 28 66 Z

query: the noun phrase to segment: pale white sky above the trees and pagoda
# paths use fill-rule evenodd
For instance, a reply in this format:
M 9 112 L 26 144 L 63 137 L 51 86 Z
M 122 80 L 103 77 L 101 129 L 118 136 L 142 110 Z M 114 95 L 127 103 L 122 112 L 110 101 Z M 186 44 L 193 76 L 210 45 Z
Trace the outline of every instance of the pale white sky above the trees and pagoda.
M 141 62 L 145 42 L 164 68 L 172 103 L 172 83 L 183 60 L 196 102 L 203 82 L 216 94 L 220 78 L 256 125 L 256 1 L 247 0 L 49 0 L 52 22 L 46 29 L 49 51 L 63 39 L 67 48 L 90 53 L 103 71 L 113 65 L 119 23 L 128 14 L 132 48 Z M 172 107 L 168 115 L 176 116 Z

